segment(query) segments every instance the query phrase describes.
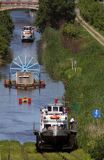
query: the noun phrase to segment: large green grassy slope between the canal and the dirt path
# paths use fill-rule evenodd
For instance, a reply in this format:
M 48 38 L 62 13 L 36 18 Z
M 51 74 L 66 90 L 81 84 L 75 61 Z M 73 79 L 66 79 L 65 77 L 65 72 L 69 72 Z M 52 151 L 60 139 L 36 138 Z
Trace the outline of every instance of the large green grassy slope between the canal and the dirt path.
M 76 71 L 72 59 L 77 62 Z M 81 27 L 80 38 L 74 42 L 63 41 L 60 32 L 48 28 L 43 34 L 42 60 L 50 75 L 65 83 L 66 101 L 78 120 L 79 146 L 93 149 L 104 134 L 103 116 L 95 120 L 91 115 L 96 108 L 104 113 L 104 48 Z

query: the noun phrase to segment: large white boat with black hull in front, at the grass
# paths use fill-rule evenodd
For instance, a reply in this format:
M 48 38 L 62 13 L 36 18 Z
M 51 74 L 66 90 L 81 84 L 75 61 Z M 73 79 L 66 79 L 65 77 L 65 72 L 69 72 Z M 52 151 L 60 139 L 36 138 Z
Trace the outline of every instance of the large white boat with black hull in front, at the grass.
M 40 130 L 34 128 L 33 133 L 38 150 L 70 150 L 75 147 L 76 128 L 68 125 L 67 109 L 58 100 L 40 110 Z

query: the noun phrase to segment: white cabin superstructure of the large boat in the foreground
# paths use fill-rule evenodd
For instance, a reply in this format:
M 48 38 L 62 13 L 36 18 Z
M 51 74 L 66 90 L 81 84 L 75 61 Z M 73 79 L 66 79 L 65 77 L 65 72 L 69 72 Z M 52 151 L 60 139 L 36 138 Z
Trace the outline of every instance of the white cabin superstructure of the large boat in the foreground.
M 53 129 L 55 126 L 60 128 L 68 127 L 68 115 L 66 108 L 60 102 L 49 104 L 41 109 L 41 128 Z

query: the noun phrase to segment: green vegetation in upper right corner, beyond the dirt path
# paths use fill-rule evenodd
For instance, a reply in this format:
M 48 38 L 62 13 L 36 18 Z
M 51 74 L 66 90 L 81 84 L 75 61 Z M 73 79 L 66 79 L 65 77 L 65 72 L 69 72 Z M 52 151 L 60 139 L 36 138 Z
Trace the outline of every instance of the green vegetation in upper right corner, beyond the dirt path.
M 79 0 L 83 18 L 94 27 L 104 32 L 104 6 L 95 0 Z

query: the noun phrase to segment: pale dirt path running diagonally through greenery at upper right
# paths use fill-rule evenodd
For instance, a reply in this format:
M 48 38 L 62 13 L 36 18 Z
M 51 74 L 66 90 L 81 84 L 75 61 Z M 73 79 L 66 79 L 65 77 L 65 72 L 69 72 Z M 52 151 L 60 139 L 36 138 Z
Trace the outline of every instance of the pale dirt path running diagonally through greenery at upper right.
M 83 20 L 83 18 L 80 16 L 80 11 L 78 8 L 76 8 L 75 12 L 76 21 L 79 22 L 101 45 L 104 46 L 104 37 Z

